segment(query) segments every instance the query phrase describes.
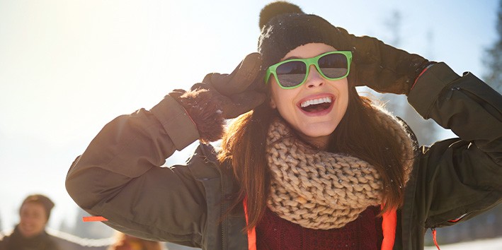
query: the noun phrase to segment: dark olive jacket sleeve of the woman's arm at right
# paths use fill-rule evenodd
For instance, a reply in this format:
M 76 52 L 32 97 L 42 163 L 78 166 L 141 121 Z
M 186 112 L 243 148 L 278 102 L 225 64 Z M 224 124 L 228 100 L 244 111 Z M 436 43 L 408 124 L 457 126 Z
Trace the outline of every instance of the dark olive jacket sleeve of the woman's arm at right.
M 425 227 L 451 225 L 496 206 L 502 198 L 502 96 L 472 73 L 430 67 L 409 93 L 425 119 L 459 138 L 423 147 L 415 203 Z

